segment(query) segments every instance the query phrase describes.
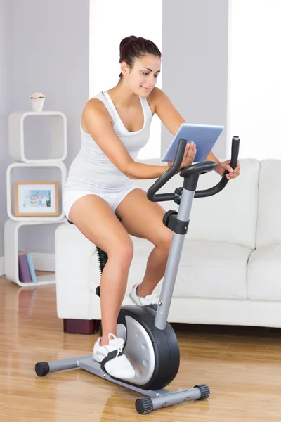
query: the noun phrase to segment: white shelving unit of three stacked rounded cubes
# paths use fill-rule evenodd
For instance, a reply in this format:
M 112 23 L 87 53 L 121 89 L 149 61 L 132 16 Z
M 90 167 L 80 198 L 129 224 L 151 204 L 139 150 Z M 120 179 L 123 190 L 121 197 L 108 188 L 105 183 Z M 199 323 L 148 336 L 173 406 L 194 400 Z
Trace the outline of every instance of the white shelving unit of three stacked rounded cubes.
M 37 119 L 37 116 L 48 117 L 50 124 L 51 151 L 48 156 L 28 157 L 25 134 L 25 122 L 27 119 Z M 5 254 L 5 274 L 6 278 L 18 286 L 38 286 L 55 283 L 55 275 L 37 276 L 37 282 L 22 283 L 19 279 L 18 271 L 18 231 L 24 225 L 39 224 L 60 224 L 67 221 L 63 214 L 63 186 L 67 177 L 67 170 L 63 160 L 67 156 L 67 120 L 60 111 L 15 111 L 8 118 L 9 130 L 9 152 L 15 160 L 6 170 L 6 198 L 7 213 L 9 219 L 4 225 L 4 254 Z M 39 136 L 38 136 L 39 138 Z M 38 147 L 38 146 L 37 146 Z M 15 204 L 15 184 L 13 172 L 18 168 L 26 167 L 50 167 L 57 168 L 60 172 L 58 181 L 60 183 L 60 214 L 55 217 L 16 217 L 14 212 Z M 49 181 L 48 179 L 47 181 Z M 32 181 L 32 180 L 29 180 Z M 44 181 L 44 180 L 40 180 Z M 31 252 L 32 253 L 32 252 Z M 40 268 L 36 268 L 39 270 Z

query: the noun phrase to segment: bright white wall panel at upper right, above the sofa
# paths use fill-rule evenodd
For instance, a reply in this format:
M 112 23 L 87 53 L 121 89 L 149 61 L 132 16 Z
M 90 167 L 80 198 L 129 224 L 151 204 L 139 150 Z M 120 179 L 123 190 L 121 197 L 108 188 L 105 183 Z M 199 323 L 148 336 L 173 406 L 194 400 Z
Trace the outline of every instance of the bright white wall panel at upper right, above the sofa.
M 281 158 L 281 1 L 230 2 L 229 131 L 240 158 Z

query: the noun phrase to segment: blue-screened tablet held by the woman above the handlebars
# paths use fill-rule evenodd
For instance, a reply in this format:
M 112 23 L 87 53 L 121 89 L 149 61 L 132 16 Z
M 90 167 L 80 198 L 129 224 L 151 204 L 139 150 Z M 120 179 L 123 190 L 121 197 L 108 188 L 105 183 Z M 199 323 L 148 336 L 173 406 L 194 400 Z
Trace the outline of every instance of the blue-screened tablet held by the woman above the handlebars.
M 176 132 L 174 139 L 164 153 L 162 161 L 174 161 L 178 141 L 186 139 L 188 143 L 194 142 L 196 145 L 195 162 L 205 161 L 214 144 L 218 140 L 224 126 L 214 126 L 209 124 L 188 124 L 183 123 Z

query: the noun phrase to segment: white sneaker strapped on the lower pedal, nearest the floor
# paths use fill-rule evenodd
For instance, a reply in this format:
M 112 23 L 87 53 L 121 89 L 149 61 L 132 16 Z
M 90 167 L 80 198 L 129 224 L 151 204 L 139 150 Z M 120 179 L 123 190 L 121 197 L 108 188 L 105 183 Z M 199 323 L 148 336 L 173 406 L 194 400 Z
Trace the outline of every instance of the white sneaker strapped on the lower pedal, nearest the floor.
M 120 379 L 133 378 L 136 373 L 131 362 L 123 353 L 124 339 L 114 334 L 108 335 L 109 344 L 101 346 L 100 338 L 93 347 L 93 359 L 100 363 L 103 371 Z

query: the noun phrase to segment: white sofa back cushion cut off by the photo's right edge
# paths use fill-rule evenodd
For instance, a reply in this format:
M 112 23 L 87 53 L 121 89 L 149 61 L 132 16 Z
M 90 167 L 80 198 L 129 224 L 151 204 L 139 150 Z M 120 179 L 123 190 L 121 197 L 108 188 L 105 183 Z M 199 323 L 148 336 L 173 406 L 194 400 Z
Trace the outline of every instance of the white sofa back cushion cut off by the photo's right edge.
M 281 160 L 261 161 L 256 248 L 281 244 Z

